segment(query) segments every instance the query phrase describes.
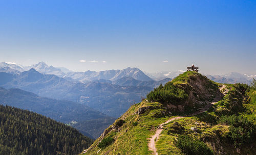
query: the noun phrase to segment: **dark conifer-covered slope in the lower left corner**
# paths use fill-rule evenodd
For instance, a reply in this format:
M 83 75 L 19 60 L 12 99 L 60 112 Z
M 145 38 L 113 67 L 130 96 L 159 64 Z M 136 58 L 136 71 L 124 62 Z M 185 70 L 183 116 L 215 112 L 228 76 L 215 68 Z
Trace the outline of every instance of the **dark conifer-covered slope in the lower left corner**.
M 0 154 L 78 154 L 92 142 L 63 123 L 0 105 Z

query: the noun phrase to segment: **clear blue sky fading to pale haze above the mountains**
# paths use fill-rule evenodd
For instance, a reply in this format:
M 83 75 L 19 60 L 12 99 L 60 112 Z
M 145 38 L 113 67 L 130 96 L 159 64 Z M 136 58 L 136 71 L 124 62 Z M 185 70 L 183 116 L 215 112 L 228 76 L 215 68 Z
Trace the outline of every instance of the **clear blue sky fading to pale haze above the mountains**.
M 256 1 L 0 1 L 0 61 L 254 74 Z

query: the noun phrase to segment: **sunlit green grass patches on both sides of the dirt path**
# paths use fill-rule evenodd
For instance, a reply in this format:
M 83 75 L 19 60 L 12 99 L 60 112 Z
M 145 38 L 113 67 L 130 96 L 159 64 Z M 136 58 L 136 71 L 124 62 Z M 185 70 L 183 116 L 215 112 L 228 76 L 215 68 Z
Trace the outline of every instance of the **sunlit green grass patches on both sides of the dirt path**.
M 195 76 L 196 74 L 198 73 L 185 72 L 174 79 L 172 83 L 174 85 L 187 84 L 188 77 Z M 220 84 L 212 81 L 210 81 L 210 83 L 212 85 L 220 86 Z M 226 88 L 232 89 L 232 85 L 227 85 Z M 135 114 L 139 108 L 147 106 L 152 107 L 151 110 L 147 110 L 141 115 Z M 176 122 L 184 127 L 184 131 L 179 134 L 187 134 L 191 137 L 206 141 L 211 148 L 212 144 L 215 144 L 215 153 L 217 154 L 220 152 L 236 154 L 236 150 L 232 145 L 227 143 L 228 126 L 216 123 L 215 110 L 219 108 L 218 106 L 220 105 L 217 105 L 215 109 L 212 108 L 209 112 L 176 120 Z M 167 113 L 164 105 L 159 102 L 150 103 L 144 100 L 139 104 L 133 105 L 119 118 L 125 121 L 123 126 L 119 128 L 119 131 L 111 131 L 105 136 L 108 137 L 109 135 L 113 135 L 113 138 L 116 139 L 113 144 L 100 150 L 100 148 L 97 147 L 99 142 L 99 139 L 97 139 L 86 154 L 152 154 L 153 152 L 148 150 L 148 138 L 155 134 L 155 130 L 159 124 L 172 117 L 175 116 Z M 136 121 L 138 122 L 138 125 L 134 126 L 133 122 Z M 173 143 L 178 134 L 168 133 L 173 124 L 173 122 L 169 122 L 165 125 L 160 139 L 157 141 L 156 147 L 158 149 L 158 154 L 182 154 Z M 200 134 L 191 132 L 190 127 L 198 127 L 200 129 Z M 242 153 L 252 154 L 252 151 L 255 151 L 253 149 L 247 150 L 248 151 Z

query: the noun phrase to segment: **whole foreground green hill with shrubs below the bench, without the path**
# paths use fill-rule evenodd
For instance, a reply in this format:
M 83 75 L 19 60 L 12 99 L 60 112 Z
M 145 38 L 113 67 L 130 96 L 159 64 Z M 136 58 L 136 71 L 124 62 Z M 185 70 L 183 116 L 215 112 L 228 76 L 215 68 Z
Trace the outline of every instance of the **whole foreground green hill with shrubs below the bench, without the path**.
M 185 116 L 163 124 L 158 154 L 254 154 L 255 87 L 185 72 L 131 106 L 82 153 L 155 154 L 148 142 L 159 125 Z

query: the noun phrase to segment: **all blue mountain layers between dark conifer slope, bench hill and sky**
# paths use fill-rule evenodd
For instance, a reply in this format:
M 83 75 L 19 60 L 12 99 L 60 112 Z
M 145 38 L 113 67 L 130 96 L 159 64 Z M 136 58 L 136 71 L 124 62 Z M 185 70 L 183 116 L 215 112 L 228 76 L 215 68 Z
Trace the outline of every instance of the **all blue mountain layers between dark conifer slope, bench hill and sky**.
M 138 68 L 66 74 L 43 62 L 29 67 L 0 63 L 0 102 L 69 123 L 96 139 L 132 104 L 170 80 L 154 81 Z

